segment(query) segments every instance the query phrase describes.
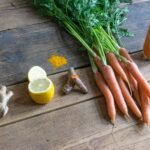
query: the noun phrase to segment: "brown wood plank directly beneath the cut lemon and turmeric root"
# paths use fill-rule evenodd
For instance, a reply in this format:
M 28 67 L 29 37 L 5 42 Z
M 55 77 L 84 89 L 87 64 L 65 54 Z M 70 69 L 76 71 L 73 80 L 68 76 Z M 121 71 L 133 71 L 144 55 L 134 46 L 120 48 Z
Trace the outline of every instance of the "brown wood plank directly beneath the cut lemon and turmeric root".
M 150 62 L 146 62 L 140 57 L 141 53 L 137 53 L 134 54 L 133 58 L 136 61 L 142 73 L 144 74 L 144 76 L 146 77 L 146 79 L 150 81 Z M 83 101 L 87 101 L 93 97 L 101 96 L 99 91 L 97 90 L 91 69 L 89 67 L 79 69 L 77 70 L 77 73 L 85 82 L 86 86 L 88 87 L 89 93 L 86 95 L 82 95 L 75 92 L 71 95 L 63 96 L 61 93 L 61 87 L 65 82 L 66 73 L 51 75 L 50 78 L 52 79 L 56 87 L 55 98 L 53 102 L 44 106 L 36 105 L 31 101 L 30 97 L 28 96 L 27 83 L 21 83 L 14 86 L 10 86 L 9 89 L 13 90 L 15 95 L 10 101 L 9 113 L 6 117 L 0 120 L 0 125 L 2 126 L 11 122 L 29 118 L 42 113 L 54 111 L 59 108 L 80 103 Z

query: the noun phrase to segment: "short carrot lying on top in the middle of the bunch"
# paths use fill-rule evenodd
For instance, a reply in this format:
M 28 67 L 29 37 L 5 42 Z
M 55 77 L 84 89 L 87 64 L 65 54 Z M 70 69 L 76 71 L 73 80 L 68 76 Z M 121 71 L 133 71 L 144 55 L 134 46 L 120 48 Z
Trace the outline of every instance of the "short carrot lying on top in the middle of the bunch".
M 119 75 L 121 76 L 121 78 L 126 81 L 128 83 L 128 79 L 127 76 L 125 74 L 125 72 L 123 71 L 120 63 L 118 62 L 116 56 L 113 53 L 107 53 L 106 54 L 107 60 L 109 62 L 109 64 L 111 65 L 111 67 L 113 68 L 113 70 Z

